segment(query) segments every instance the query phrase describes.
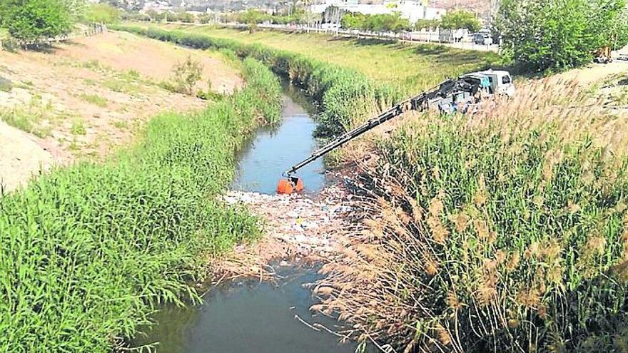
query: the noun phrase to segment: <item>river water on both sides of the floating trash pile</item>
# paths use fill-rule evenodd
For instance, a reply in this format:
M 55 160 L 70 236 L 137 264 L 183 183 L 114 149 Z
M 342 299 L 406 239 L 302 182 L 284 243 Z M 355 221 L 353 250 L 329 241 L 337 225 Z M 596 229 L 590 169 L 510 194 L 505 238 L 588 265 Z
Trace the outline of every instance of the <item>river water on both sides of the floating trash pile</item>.
M 250 141 L 232 188 L 275 193 L 281 172 L 317 148 L 312 107 L 295 88 L 286 86 L 284 93 L 280 126 L 261 128 Z M 323 187 L 322 172 L 318 161 L 299 173 L 306 191 Z M 277 271 L 275 283 L 231 282 L 208 292 L 202 305 L 161 310 L 153 317 L 158 324 L 135 343 L 159 342 L 157 352 L 164 353 L 354 352 L 355 344 L 340 344 L 334 334 L 301 321 L 339 328 L 334 319 L 309 311 L 315 298 L 308 283 L 319 278 L 316 268 L 278 266 Z

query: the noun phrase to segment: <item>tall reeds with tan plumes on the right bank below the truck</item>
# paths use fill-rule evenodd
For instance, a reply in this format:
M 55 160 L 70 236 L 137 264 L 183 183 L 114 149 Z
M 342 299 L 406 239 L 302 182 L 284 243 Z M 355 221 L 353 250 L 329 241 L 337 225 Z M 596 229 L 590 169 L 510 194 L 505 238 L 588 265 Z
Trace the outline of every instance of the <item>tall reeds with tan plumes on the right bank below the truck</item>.
M 363 165 L 313 307 L 390 352 L 628 352 L 628 126 L 573 83 L 422 116 Z

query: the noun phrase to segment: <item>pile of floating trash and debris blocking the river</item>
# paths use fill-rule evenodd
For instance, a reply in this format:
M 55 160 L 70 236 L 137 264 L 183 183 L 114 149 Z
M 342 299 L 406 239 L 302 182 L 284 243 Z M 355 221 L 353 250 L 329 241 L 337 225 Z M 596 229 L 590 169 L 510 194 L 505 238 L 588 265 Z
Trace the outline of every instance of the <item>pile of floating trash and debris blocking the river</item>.
M 264 237 L 253 245 L 238 245 L 218 261 L 214 273 L 229 278 L 273 275 L 271 263 L 298 265 L 320 262 L 338 254 L 345 240 L 353 195 L 343 186 L 328 185 L 318 195 L 266 195 L 230 191 L 229 204 L 244 205 L 263 221 Z

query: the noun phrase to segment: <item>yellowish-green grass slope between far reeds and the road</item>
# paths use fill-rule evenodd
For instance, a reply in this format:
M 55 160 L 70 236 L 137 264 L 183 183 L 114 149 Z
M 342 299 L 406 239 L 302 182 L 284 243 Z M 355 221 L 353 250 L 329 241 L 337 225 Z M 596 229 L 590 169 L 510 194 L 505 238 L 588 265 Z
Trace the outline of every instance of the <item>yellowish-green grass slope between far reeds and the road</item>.
M 262 44 L 269 48 L 299 53 L 308 58 L 351 68 L 375 81 L 400 88 L 406 95 L 420 93 L 448 77 L 498 66 L 496 53 L 467 51 L 433 44 L 405 44 L 373 39 L 335 39 L 321 34 L 284 34 L 277 31 L 219 29 L 211 26 L 164 25 L 191 34 L 233 39 L 244 44 Z

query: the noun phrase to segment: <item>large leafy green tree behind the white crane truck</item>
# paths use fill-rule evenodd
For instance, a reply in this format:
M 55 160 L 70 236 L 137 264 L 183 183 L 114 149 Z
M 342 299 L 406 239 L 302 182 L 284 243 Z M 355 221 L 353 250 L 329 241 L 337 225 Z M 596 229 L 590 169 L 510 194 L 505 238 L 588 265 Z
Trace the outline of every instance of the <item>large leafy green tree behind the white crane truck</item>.
M 537 71 L 573 68 L 613 44 L 623 0 L 502 0 L 505 53 Z

